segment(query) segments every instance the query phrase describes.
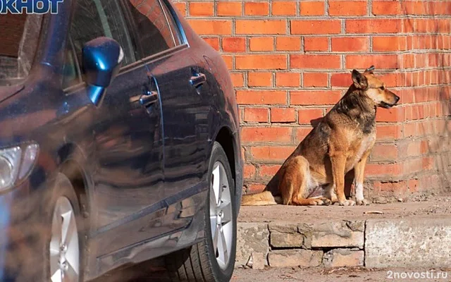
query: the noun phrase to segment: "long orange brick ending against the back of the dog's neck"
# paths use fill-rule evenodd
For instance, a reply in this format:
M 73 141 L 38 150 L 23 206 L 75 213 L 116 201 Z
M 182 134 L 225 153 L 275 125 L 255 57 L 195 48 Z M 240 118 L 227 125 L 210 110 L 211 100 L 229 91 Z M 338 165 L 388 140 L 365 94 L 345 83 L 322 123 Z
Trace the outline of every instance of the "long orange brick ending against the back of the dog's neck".
M 290 104 L 292 105 L 332 105 L 341 98 L 341 92 L 337 90 L 300 90 L 290 92 Z

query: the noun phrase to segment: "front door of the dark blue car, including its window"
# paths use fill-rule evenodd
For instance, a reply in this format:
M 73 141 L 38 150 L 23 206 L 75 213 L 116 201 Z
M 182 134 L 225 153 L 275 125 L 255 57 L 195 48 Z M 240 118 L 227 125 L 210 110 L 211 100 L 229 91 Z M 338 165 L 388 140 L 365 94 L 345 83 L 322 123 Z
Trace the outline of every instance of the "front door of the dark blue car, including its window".
M 87 28 L 89 27 L 89 28 Z M 116 39 L 123 68 L 94 114 L 95 171 L 92 250 L 97 256 L 152 238 L 166 211 L 163 199 L 163 124 L 156 81 L 139 62 L 118 0 L 78 0 L 70 29 L 73 59 L 91 39 Z M 80 66 L 80 64 L 78 64 Z M 70 72 L 69 72 L 70 73 Z M 86 92 L 85 88 L 77 90 Z

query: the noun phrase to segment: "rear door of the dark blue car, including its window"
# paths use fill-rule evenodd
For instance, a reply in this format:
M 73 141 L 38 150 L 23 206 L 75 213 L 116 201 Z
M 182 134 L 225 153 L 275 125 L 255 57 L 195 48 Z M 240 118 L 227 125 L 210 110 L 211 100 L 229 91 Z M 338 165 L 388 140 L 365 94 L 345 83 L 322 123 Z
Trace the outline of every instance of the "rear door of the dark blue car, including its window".
M 124 0 L 134 23 L 149 78 L 158 82 L 164 132 L 164 195 L 168 205 L 163 226 L 170 232 L 187 226 L 202 206 L 205 191 L 208 96 L 206 77 L 196 66 L 173 18 L 159 0 Z M 202 57 L 202 56 L 201 56 Z M 203 184 L 203 186 L 202 186 Z M 202 204 L 200 204 L 202 203 Z

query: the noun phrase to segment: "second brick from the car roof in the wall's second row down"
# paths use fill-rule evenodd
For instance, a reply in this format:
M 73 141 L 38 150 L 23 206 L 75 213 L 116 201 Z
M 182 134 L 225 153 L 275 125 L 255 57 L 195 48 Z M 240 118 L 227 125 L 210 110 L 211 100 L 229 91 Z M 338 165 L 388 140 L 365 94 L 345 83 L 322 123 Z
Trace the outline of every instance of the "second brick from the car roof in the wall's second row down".
M 285 35 L 286 20 L 236 20 L 235 32 L 239 35 Z

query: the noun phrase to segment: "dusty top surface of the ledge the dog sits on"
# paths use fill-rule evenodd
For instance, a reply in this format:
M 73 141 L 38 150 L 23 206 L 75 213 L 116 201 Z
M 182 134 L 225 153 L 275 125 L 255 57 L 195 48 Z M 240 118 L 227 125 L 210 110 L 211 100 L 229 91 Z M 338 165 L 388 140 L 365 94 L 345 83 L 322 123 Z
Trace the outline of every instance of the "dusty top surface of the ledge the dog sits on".
M 410 216 L 433 218 L 451 216 L 451 195 L 417 195 L 416 197 L 400 200 L 402 201 L 353 207 L 340 207 L 337 205 L 314 207 L 283 205 L 241 207 L 238 221 L 302 222 L 314 219 L 401 219 Z M 379 212 L 382 212 L 382 214 Z

